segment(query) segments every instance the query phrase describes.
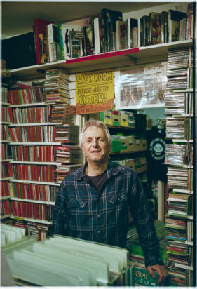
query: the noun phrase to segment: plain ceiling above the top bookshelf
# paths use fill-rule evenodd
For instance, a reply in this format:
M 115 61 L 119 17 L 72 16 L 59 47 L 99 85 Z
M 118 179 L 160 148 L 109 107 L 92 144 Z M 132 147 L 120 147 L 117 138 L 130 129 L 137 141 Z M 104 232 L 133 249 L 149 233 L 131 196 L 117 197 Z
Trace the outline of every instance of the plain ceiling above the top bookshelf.
M 163 4 L 166 1 L 1 1 L 1 34 L 5 38 L 30 32 L 34 18 L 60 24 L 97 15 L 102 8 L 125 13 Z

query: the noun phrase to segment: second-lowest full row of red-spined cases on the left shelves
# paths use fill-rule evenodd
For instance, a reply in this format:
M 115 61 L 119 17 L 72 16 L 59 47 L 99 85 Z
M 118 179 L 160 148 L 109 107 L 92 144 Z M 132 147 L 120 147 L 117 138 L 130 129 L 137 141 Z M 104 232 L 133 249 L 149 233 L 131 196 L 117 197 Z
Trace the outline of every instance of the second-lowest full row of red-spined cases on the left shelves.
M 11 182 L 9 189 L 11 197 L 48 202 L 55 202 L 57 191 L 56 186 L 48 184 L 22 184 L 19 182 Z

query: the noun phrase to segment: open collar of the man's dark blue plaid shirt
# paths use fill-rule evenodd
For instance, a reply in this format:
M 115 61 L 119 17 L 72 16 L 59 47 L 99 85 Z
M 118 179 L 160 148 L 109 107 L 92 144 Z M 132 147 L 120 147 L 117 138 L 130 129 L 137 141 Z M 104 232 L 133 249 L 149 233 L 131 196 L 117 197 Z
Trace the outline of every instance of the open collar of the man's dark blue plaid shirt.
M 85 179 L 85 169 L 87 166 L 87 162 L 79 168 L 79 170 L 76 171 L 76 180 Z M 118 173 L 121 173 L 123 169 L 121 166 L 119 166 L 117 163 L 114 163 L 113 161 L 109 161 L 108 167 L 107 167 L 107 177 L 118 175 Z

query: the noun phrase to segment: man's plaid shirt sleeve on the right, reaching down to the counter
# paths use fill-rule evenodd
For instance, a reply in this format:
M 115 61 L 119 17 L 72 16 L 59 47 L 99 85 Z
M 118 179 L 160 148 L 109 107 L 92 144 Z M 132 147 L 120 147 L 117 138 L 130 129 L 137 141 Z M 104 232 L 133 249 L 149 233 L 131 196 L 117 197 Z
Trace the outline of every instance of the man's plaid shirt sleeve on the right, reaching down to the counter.
M 130 213 L 133 215 L 139 235 L 140 245 L 142 246 L 145 258 L 145 267 L 156 264 L 163 265 L 163 260 L 159 255 L 159 242 L 156 236 L 154 220 L 151 215 L 147 196 L 144 194 L 142 184 L 137 175 L 134 177 L 132 191 L 134 197 L 131 202 Z

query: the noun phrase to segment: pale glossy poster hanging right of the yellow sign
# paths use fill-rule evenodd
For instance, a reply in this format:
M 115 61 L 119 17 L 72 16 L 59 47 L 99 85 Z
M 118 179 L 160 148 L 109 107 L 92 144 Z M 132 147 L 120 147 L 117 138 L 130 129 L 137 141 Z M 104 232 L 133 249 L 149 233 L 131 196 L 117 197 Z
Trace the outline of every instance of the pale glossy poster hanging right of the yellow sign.
M 167 62 L 116 72 L 116 109 L 164 105 Z

